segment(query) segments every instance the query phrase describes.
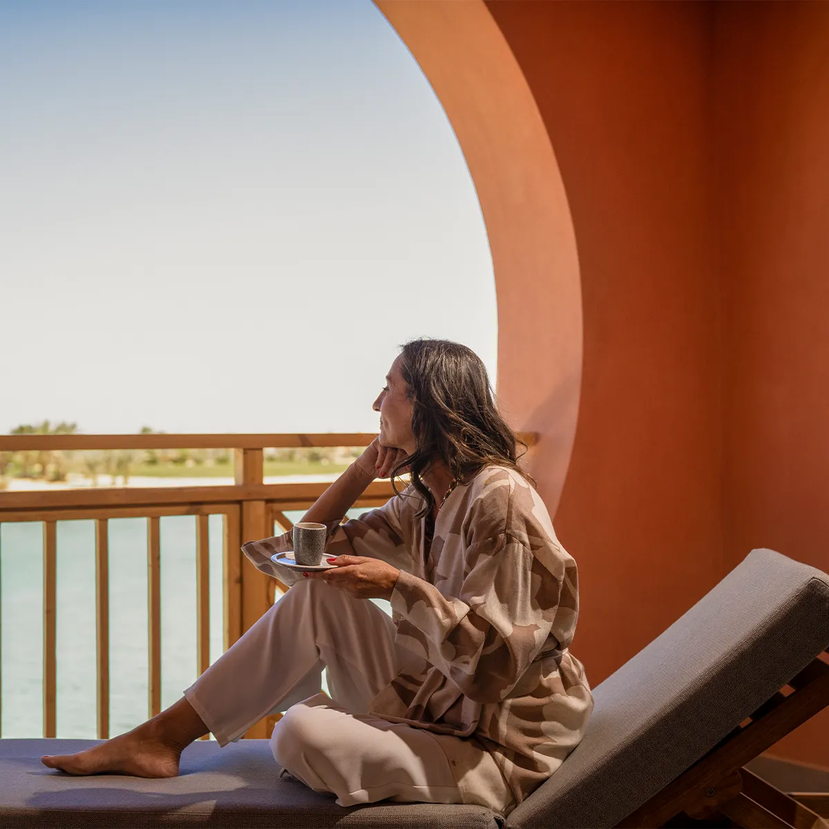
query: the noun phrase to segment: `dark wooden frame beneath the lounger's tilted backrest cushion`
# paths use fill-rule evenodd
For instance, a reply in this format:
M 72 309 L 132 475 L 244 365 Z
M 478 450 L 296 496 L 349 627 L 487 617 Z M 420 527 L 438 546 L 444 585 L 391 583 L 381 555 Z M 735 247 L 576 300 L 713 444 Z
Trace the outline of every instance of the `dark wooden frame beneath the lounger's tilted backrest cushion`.
M 829 793 L 796 798 L 743 768 L 829 705 L 827 653 L 618 827 L 662 827 L 678 816 L 692 818 L 686 826 L 701 820 L 744 829 L 829 829 Z

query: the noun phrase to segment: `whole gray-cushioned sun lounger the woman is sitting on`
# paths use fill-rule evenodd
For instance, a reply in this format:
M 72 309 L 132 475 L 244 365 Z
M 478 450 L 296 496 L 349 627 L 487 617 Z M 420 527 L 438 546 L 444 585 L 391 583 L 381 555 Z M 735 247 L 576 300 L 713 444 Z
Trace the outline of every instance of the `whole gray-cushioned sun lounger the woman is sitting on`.
M 70 778 L 39 762 L 92 740 L 3 739 L 0 826 L 822 827 L 744 767 L 829 704 L 827 647 L 829 576 L 753 550 L 594 689 L 584 739 L 506 822 L 475 806 L 343 809 L 280 779 L 266 740 L 200 741 L 178 778 L 142 780 Z

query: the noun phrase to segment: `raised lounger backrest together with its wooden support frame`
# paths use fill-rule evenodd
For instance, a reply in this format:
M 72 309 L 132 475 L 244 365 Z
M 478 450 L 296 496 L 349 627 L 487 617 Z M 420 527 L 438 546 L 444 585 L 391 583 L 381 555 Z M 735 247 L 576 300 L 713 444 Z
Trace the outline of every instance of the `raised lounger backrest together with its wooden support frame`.
M 797 803 L 741 769 L 829 705 L 827 647 L 829 575 L 752 550 L 594 689 L 584 739 L 511 827 L 787 826 Z

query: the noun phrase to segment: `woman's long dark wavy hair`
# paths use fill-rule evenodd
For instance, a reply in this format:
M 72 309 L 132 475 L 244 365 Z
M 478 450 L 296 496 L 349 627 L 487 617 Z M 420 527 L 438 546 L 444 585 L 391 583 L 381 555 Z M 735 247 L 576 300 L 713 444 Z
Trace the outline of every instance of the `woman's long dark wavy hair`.
M 400 346 L 400 374 L 409 386 L 412 402 L 414 453 L 391 470 L 391 486 L 410 467 L 414 489 L 425 499 L 420 518 L 434 507 L 434 497 L 421 473 L 440 459 L 458 483 L 467 483 L 489 465 L 515 469 L 533 486 L 536 482 L 518 466 L 527 449 L 495 406 L 487 368 L 471 349 L 449 340 L 421 337 Z M 524 451 L 516 456 L 516 444 Z

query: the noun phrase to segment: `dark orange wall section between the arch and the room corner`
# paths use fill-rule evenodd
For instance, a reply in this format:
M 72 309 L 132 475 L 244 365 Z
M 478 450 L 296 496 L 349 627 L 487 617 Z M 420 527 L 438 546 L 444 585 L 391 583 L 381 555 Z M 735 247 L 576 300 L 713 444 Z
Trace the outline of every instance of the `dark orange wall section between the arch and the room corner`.
M 598 684 L 729 569 L 709 19 L 696 3 L 488 6 L 550 133 L 579 250 L 581 402 L 555 526 L 579 564 L 573 650 Z M 521 337 L 520 314 L 499 322 Z M 529 354 L 499 361 L 507 373 L 543 382 Z

